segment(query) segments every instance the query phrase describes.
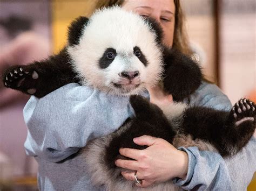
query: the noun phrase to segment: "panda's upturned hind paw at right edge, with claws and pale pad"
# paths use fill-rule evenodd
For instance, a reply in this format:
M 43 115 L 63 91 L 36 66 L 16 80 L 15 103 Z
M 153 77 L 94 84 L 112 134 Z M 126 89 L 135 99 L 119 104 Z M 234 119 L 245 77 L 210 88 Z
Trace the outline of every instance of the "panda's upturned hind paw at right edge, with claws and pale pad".
M 247 99 L 241 99 L 234 104 L 231 110 L 235 126 L 245 122 L 254 122 L 256 117 L 255 104 Z

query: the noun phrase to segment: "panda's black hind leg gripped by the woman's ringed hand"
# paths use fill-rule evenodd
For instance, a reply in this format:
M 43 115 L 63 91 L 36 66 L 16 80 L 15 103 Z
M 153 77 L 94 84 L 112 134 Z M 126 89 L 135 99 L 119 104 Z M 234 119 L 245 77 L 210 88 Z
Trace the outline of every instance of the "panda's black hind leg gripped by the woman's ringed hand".
M 157 105 L 150 103 L 140 95 L 132 95 L 130 103 L 136 117 L 128 119 L 114 132 L 110 144 L 106 147 L 105 160 L 111 167 L 116 167 L 114 161 L 116 161 L 117 157 L 120 157 L 119 148 L 143 150 L 147 147 L 135 144 L 133 142 L 134 137 L 149 135 L 163 138 L 167 142 L 172 143 L 176 135 L 163 111 Z

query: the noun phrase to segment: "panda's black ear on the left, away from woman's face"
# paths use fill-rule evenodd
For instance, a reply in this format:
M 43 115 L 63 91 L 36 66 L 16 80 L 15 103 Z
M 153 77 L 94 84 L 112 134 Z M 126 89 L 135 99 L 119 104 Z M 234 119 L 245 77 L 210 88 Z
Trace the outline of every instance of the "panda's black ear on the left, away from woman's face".
M 83 30 L 87 25 L 89 19 L 86 17 L 78 17 L 74 20 L 68 29 L 68 43 L 69 46 L 78 45 L 79 38 L 82 36 Z

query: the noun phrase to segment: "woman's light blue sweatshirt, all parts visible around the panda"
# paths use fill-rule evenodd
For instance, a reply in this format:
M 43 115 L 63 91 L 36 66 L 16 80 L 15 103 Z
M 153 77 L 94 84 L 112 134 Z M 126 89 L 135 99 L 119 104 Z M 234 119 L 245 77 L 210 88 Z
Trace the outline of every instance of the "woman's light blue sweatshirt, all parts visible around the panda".
M 221 110 L 231 108 L 230 101 L 220 89 L 205 82 L 190 97 L 189 103 Z M 39 189 L 104 189 L 92 187 L 90 174 L 81 162 L 83 159 L 75 153 L 88 140 L 116 130 L 132 115 L 129 97 L 105 95 L 75 83 L 41 99 L 31 96 L 24 108 L 28 126 L 25 149 L 38 162 Z M 229 190 L 237 186 L 246 189 L 255 172 L 255 140 L 244 148 L 239 160 L 224 160 L 218 153 L 198 151 L 197 147 L 180 149 L 188 153 L 188 175 L 186 180 L 176 179 L 174 182 L 184 189 L 195 186 L 200 190 Z

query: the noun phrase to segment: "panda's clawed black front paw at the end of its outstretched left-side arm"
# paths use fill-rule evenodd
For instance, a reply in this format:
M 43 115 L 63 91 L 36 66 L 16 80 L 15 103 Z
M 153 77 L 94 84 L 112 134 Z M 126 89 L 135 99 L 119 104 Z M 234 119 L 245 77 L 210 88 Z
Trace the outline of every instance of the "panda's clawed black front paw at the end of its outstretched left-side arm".
M 37 79 L 38 73 L 35 70 L 28 66 L 15 66 L 6 70 L 3 82 L 5 87 L 33 95 L 36 93 Z

